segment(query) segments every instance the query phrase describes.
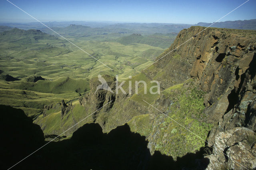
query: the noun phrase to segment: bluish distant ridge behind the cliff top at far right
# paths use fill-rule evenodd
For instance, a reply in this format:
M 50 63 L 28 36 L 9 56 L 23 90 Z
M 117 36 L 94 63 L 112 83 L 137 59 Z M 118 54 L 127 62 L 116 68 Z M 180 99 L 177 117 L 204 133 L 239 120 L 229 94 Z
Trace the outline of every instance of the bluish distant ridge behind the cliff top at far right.
M 208 27 L 212 23 L 199 22 L 196 26 Z M 211 27 L 215 28 L 232 28 L 239 30 L 256 30 L 256 19 L 254 20 L 237 20 L 237 21 L 225 21 L 225 22 L 216 22 Z

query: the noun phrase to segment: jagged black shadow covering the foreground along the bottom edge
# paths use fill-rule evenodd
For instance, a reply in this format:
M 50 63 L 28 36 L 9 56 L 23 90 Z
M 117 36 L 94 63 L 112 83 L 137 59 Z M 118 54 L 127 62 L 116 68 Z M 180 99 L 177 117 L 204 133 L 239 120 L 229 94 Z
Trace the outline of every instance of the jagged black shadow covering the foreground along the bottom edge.
M 20 109 L 0 106 L 2 140 L 1 169 L 10 168 L 16 162 L 34 152 L 44 143 L 42 130 Z M 186 154 L 174 161 L 156 151 L 153 156 L 147 148 L 144 136 L 130 131 L 125 124 L 102 132 L 100 125 L 85 124 L 73 133 L 72 138 L 50 142 L 38 152 L 14 166 L 13 169 L 205 169 L 209 160 L 203 158 L 203 149 L 196 154 Z

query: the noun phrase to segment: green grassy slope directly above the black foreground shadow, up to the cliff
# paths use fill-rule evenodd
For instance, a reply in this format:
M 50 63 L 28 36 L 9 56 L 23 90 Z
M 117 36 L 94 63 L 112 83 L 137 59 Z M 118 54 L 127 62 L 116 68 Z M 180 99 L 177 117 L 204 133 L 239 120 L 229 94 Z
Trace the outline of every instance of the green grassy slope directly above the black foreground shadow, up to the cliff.
M 134 83 L 138 80 L 144 80 L 147 83 L 146 94 L 144 94 L 142 84 L 139 85 L 138 94 L 134 94 Z M 109 132 L 116 126 L 128 122 L 132 132 L 146 137 L 152 153 L 154 150 L 159 150 L 162 154 L 173 156 L 174 159 L 188 152 L 195 152 L 204 146 L 204 140 L 198 140 L 191 132 L 178 125 L 178 123 L 184 125 L 202 139 L 206 139 L 208 131 L 212 127 L 211 124 L 204 123 L 206 115 L 203 115 L 202 111 L 205 93 L 198 89 L 195 80 L 190 79 L 171 86 L 164 89 L 160 95 L 149 93 L 150 87 L 155 84 L 151 84 L 143 73 L 132 77 L 132 79 L 126 79 L 126 83 L 122 87 L 127 93 L 128 81 L 132 82 L 133 95 L 128 95 L 124 99 L 121 97 L 122 95 L 119 95 L 119 99 L 115 100 L 111 109 L 107 112 L 101 109 L 97 114 L 96 123 L 102 125 L 104 132 Z M 158 112 L 143 100 L 151 103 L 172 119 Z M 59 134 L 92 113 L 91 102 L 94 101 L 89 101 L 83 107 L 78 101 L 73 101 L 71 110 L 63 118 L 60 115 L 60 107 L 53 107 L 48 111 L 49 114 L 46 117 L 40 115 L 34 123 L 39 124 L 45 134 Z M 166 105 L 168 102 L 170 104 Z M 65 135 L 70 136 L 83 124 L 92 122 L 93 117 L 88 117 Z

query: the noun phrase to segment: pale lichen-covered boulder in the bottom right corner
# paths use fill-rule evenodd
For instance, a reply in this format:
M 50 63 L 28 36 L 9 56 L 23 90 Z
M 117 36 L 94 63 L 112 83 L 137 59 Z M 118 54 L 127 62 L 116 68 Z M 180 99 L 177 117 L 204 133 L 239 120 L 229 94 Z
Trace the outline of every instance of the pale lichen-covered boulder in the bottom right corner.
M 238 127 L 215 135 L 213 154 L 205 156 L 210 159 L 208 170 L 220 167 L 228 169 L 253 169 L 256 167 L 255 132 Z

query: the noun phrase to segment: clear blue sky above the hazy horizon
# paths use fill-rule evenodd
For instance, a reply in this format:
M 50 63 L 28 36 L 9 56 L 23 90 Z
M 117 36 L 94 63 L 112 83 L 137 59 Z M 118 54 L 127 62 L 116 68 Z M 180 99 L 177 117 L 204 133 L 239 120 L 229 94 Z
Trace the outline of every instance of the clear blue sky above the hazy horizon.
M 196 24 L 215 22 L 246 0 L 10 0 L 42 22 L 112 21 Z M 250 0 L 222 20 L 256 19 Z M 0 0 L 0 22 L 35 22 Z

